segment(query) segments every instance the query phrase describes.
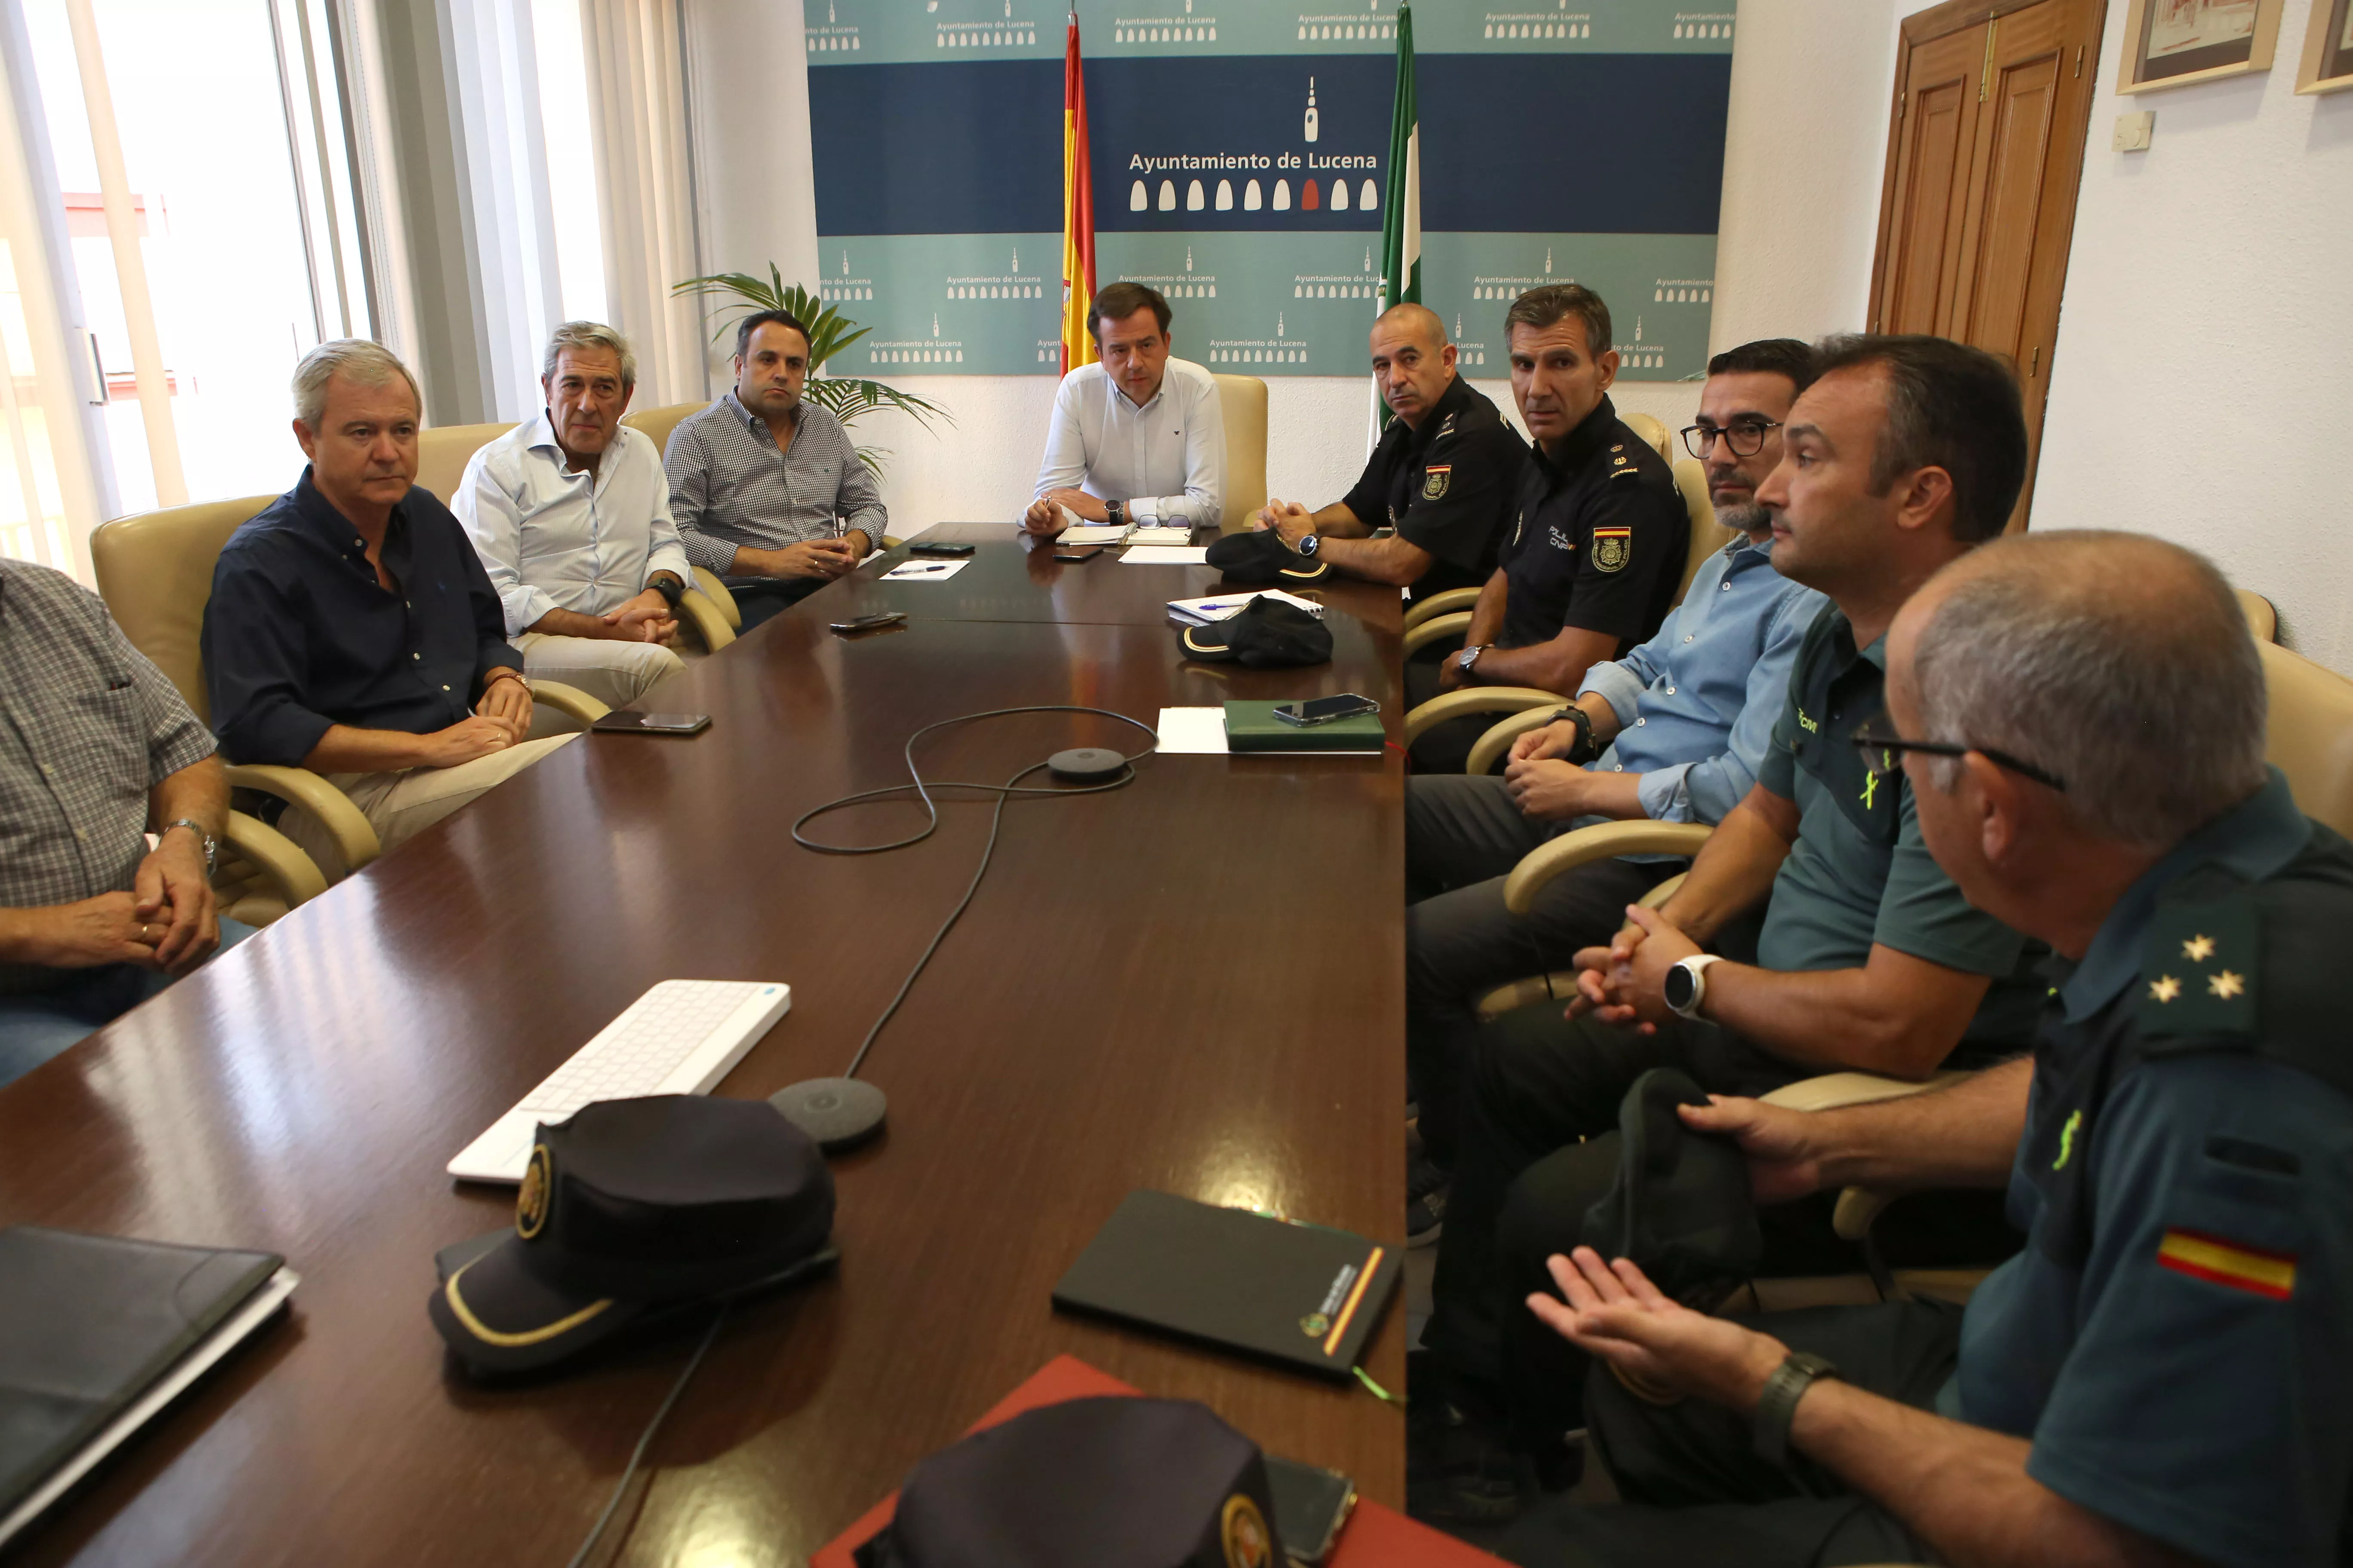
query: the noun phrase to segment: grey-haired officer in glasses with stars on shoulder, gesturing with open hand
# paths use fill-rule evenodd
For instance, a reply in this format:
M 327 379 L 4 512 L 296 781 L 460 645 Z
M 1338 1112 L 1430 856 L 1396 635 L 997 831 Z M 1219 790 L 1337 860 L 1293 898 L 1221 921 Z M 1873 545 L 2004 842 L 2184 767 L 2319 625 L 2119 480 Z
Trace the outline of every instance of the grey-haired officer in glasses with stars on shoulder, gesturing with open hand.
M 1506 1556 L 2344 1561 L 2353 844 L 2264 766 L 2228 583 L 2146 536 L 1993 543 L 1901 609 L 1887 717 L 1852 745 L 1908 773 L 1969 900 L 2073 969 L 2031 1058 L 1878 1105 L 1682 1119 L 1741 1145 L 1762 1201 L 2007 1187 L 2026 1248 L 1965 1312 L 1746 1321 L 1628 1260 L 1551 1258 L 1562 1298 L 1529 1309 L 1682 1399 L 1595 1371 L 1631 1507 L 1548 1507 Z

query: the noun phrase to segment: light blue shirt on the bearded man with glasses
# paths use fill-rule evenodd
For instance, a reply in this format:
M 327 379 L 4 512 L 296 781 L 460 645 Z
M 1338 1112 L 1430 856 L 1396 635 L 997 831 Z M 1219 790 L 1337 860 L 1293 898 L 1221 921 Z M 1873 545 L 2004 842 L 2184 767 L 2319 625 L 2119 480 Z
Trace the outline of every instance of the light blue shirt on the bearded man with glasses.
M 1586 670 L 1584 691 L 1619 717 L 1595 771 L 1640 773 L 1654 823 L 1725 820 L 1758 780 L 1798 644 L 1824 604 L 1772 569 L 1772 541 L 1737 534 L 1701 562 L 1657 637 Z

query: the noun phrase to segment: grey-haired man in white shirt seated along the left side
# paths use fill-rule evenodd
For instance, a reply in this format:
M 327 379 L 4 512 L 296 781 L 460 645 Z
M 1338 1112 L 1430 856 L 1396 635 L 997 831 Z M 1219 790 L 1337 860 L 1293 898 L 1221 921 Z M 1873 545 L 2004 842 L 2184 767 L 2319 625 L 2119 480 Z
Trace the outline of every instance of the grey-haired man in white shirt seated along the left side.
M 506 635 L 539 679 L 626 708 L 685 665 L 687 552 L 661 449 L 621 423 L 638 355 L 600 322 L 565 322 L 539 378 L 548 407 L 473 454 L 449 496 Z

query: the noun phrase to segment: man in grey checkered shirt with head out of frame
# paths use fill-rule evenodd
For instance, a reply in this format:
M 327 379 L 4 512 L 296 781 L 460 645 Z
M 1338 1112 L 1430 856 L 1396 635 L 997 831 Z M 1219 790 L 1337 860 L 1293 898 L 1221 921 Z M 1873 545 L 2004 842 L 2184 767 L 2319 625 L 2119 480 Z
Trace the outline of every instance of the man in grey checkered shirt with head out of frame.
M 252 936 L 212 731 L 96 595 L 0 559 L 0 1084 Z M 158 832 L 148 849 L 146 835 Z

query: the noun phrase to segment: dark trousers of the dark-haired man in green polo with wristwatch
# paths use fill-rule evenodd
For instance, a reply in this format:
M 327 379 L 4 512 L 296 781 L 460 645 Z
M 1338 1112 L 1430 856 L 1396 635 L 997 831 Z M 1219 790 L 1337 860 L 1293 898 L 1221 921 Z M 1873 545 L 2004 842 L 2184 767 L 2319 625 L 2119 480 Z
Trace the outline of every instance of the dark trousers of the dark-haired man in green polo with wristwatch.
M 1504 1013 L 1475 1037 L 1421 1342 L 1459 1394 L 1485 1396 L 1527 1441 L 1584 1425 L 1584 1356 L 1544 1331 L 1525 1300 L 1548 1288 L 1544 1258 L 1577 1244 L 1586 1208 L 1609 1187 L 1619 1103 L 1652 1067 L 1682 1067 L 1701 1088 L 1732 1095 L 1814 1072 L 1713 1023 L 1675 1018 L 1642 1034 L 1562 1018 L 1555 1004 Z M 1828 1197 L 1765 1211 L 1765 1272 L 1861 1267 L 1831 1234 L 1828 1211 Z

